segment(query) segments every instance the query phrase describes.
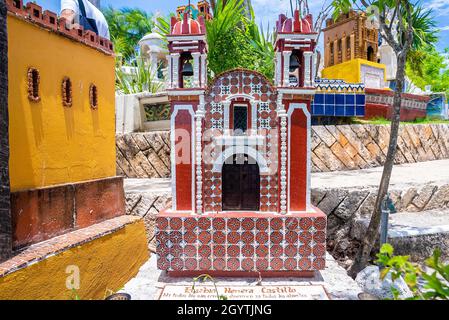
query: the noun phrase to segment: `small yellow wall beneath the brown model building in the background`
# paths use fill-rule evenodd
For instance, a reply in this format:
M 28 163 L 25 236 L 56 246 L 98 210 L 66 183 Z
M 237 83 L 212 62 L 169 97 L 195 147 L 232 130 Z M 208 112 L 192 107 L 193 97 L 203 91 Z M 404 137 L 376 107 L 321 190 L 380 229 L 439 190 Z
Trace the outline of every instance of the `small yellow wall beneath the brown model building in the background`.
M 339 63 L 332 67 L 323 69 L 322 78 L 325 79 L 341 79 L 348 83 L 362 82 L 362 65 L 367 65 L 384 70 L 384 81 L 386 81 L 387 67 L 384 64 L 371 62 L 364 59 L 353 59 L 343 63 Z

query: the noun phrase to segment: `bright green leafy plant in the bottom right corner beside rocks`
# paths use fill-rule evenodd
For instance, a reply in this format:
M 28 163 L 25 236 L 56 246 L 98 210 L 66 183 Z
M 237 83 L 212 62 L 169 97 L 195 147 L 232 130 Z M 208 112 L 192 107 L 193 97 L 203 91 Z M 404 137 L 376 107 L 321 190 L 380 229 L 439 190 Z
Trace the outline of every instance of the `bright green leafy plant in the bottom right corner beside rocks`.
M 449 265 L 441 261 L 441 251 L 435 250 L 432 257 L 426 260 L 426 272 L 421 266 L 410 262 L 408 256 L 395 256 L 390 244 L 382 246 L 377 255 L 377 263 L 383 267 L 382 280 L 391 275 L 393 281 L 403 278 L 413 293 L 407 300 L 449 300 Z M 391 288 L 395 300 L 399 300 L 399 292 Z

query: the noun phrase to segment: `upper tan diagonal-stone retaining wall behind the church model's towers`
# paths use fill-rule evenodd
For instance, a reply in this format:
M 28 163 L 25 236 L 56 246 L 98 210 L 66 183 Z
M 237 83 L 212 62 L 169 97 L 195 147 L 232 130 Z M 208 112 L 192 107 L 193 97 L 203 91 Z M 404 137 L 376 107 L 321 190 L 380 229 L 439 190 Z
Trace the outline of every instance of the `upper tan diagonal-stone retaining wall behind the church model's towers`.
M 382 166 L 388 150 L 387 125 L 312 127 L 312 171 Z M 117 174 L 128 178 L 170 177 L 168 131 L 117 136 Z M 396 164 L 449 158 L 449 125 L 403 125 Z

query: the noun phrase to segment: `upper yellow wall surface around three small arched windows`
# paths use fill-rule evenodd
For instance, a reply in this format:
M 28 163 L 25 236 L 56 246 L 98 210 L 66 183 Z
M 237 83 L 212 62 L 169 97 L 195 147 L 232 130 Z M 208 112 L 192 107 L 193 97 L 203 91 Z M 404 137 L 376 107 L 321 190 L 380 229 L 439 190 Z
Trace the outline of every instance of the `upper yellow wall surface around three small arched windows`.
M 12 16 L 8 44 L 12 191 L 115 176 L 114 57 Z M 39 103 L 28 100 L 29 67 L 40 71 Z M 62 105 L 65 76 L 71 108 Z

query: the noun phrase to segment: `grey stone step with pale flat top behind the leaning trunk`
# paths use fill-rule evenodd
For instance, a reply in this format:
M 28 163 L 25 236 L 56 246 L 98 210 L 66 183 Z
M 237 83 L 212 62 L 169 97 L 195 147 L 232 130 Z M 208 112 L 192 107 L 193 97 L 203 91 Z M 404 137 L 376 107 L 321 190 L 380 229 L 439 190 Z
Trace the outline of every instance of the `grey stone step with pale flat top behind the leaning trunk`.
M 351 237 L 361 240 L 369 219 L 354 220 Z M 412 261 L 422 262 L 440 248 L 443 258 L 449 257 L 449 210 L 401 212 L 390 216 L 388 242 L 395 254 L 409 255 Z

